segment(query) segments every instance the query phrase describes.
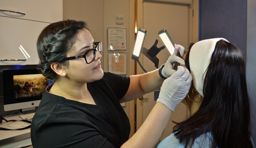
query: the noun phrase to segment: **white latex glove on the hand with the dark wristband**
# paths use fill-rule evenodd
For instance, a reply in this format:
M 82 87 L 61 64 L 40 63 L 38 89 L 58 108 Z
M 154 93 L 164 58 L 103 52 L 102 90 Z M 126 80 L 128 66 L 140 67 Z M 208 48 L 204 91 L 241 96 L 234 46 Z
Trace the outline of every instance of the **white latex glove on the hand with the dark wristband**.
M 174 53 L 168 58 L 165 66 L 162 68 L 162 71 L 161 71 L 162 76 L 164 76 L 164 78 L 168 78 L 174 72 L 176 72 L 177 67 L 179 65 L 185 65 L 185 61 L 182 59 L 184 53 L 185 53 L 185 48 L 181 45 L 175 44 Z

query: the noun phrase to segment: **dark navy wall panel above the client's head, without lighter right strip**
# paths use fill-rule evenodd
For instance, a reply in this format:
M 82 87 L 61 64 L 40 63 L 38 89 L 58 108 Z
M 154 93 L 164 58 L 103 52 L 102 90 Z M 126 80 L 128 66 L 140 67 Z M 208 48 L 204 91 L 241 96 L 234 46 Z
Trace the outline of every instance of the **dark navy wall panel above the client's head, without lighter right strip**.
M 247 0 L 200 0 L 199 5 L 199 41 L 226 38 L 246 57 Z

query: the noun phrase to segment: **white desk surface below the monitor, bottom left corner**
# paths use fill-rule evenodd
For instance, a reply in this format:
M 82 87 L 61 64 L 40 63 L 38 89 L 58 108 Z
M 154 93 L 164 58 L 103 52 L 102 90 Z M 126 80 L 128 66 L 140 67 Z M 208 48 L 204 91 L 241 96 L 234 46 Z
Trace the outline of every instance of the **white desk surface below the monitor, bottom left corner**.
M 6 120 L 21 120 L 19 115 L 4 117 Z M 3 120 L 3 123 L 0 124 L 1 128 L 8 129 L 17 129 L 24 127 L 9 127 L 8 124 L 10 122 L 6 122 Z M 15 130 L 15 131 L 0 131 L 0 145 L 5 145 L 8 143 L 12 143 L 18 140 L 26 139 L 30 137 L 30 128 L 26 130 Z

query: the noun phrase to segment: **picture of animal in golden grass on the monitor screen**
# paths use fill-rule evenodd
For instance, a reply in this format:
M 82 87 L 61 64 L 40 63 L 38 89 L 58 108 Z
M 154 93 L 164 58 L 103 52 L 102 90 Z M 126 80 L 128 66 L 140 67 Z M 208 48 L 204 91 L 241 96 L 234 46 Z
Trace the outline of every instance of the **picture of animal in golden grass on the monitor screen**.
M 48 85 L 42 74 L 13 75 L 15 98 L 43 95 Z

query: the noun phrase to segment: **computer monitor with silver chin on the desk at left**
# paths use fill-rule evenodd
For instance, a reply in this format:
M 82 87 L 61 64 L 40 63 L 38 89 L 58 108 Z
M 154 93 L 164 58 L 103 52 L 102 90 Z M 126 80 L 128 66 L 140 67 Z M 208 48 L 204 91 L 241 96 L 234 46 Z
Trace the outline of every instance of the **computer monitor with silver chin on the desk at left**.
M 0 66 L 3 110 L 33 112 L 38 107 L 49 80 L 40 74 L 36 65 Z

